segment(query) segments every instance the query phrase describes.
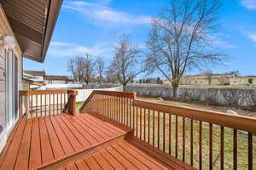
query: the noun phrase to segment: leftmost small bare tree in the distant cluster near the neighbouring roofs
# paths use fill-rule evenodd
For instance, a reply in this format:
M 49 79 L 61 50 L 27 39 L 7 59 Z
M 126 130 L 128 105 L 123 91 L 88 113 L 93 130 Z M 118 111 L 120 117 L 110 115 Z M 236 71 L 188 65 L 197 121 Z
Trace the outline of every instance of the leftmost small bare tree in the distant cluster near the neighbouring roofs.
M 83 60 L 83 57 L 79 55 L 68 60 L 67 70 L 71 72 L 75 82 L 83 80 Z

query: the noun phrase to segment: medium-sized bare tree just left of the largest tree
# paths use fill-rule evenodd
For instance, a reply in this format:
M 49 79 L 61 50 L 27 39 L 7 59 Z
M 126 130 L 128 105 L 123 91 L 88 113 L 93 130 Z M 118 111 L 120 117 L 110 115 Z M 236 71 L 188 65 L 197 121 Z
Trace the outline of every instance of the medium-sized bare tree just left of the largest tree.
M 122 35 L 115 46 L 115 55 L 108 68 L 108 72 L 116 77 L 124 90 L 128 82 L 134 80 L 144 70 L 142 49 L 133 44 L 128 35 Z

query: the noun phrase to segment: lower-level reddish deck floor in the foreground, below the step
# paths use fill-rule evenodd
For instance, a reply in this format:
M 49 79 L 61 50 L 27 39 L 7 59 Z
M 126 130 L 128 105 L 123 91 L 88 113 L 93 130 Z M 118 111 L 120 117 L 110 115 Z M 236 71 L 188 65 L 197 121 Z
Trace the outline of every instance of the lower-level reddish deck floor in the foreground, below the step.
M 121 146 L 125 147 L 125 149 L 121 149 Z M 135 150 L 139 153 L 139 157 L 138 155 L 132 155 L 127 150 Z M 158 161 L 155 161 L 142 151 L 135 149 L 132 144 L 125 140 L 118 144 L 112 144 L 108 148 L 99 150 L 92 155 L 84 156 L 84 158 L 79 161 L 82 160 L 89 165 L 90 169 L 174 169 L 160 165 Z M 156 163 L 156 165 L 154 163 Z M 78 169 L 84 170 L 87 169 L 87 167 L 79 167 Z

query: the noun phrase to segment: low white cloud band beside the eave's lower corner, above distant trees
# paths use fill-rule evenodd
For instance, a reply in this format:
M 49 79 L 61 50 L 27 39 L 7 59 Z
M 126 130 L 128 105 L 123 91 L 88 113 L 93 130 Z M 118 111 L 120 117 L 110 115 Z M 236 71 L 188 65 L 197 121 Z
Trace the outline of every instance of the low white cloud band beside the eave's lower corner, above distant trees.
M 54 57 L 73 57 L 78 54 L 92 54 L 102 57 L 111 57 L 113 47 L 109 43 L 98 43 L 94 46 L 83 46 L 69 42 L 50 42 L 49 55 Z

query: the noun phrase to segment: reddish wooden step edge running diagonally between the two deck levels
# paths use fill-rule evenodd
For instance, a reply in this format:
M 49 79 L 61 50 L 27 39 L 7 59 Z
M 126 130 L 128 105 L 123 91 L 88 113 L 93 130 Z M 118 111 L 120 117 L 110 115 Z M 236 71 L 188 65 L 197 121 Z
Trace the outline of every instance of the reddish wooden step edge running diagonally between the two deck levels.
M 51 161 L 47 164 L 41 165 L 36 168 L 32 168 L 32 170 L 47 170 L 47 169 L 57 169 L 57 168 L 63 167 L 71 162 L 78 161 L 84 156 L 88 156 L 93 153 L 96 153 L 96 151 L 102 150 L 104 148 L 108 148 L 108 146 L 110 146 L 111 144 L 117 144 L 127 138 L 130 138 L 131 133 L 132 131 L 121 133 L 118 136 L 115 136 L 111 139 L 107 139 L 101 143 L 91 145 L 88 148 L 84 148 L 83 150 L 79 150 L 68 156 L 63 156 L 60 159 Z

